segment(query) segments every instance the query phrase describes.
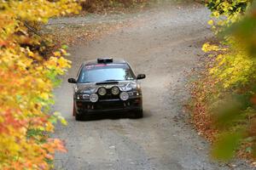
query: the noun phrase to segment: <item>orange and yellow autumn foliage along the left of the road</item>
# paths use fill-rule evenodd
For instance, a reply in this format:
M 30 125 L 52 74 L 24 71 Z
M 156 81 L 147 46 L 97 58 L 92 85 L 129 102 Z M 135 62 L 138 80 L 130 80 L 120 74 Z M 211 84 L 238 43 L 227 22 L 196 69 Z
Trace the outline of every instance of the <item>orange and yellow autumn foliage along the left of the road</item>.
M 49 169 L 55 150 L 65 151 L 49 138 L 61 118 L 49 107 L 57 76 L 70 66 L 67 52 L 45 53 L 44 40 L 28 26 L 78 11 L 75 0 L 0 2 L 0 169 Z

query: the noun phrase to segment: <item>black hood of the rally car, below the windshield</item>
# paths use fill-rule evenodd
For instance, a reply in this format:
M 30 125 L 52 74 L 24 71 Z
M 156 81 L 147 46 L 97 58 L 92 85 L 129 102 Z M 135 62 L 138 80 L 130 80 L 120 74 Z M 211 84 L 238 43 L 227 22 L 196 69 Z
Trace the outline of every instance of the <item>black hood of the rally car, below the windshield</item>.
M 137 88 L 137 81 L 104 82 L 104 84 L 97 84 L 96 82 L 78 83 L 75 91 L 79 94 L 94 94 L 98 91 L 98 88 L 109 89 L 114 86 L 119 87 L 120 91 L 131 91 L 133 88 Z

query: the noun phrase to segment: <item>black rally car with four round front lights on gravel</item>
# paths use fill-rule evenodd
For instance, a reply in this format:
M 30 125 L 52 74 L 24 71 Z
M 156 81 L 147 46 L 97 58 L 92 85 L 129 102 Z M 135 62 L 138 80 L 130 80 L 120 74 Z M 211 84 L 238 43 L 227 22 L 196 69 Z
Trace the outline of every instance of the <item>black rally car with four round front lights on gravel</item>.
M 124 59 L 101 58 L 84 62 L 73 83 L 73 116 L 76 120 L 103 112 L 128 112 L 143 117 L 143 94 L 139 79 Z

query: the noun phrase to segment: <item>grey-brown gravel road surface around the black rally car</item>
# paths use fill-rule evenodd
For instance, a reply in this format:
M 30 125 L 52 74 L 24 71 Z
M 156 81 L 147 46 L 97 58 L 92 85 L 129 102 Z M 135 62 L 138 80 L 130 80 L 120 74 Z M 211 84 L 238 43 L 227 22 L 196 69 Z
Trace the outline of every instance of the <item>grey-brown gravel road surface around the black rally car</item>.
M 129 15 L 129 14 L 128 14 Z M 208 144 L 188 123 L 183 104 L 189 98 L 184 71 L 196 66 L 201 45 L 212 36 L 208 11 L 191 4 L 166 7 L 127 16 L 132 26 L 71 50 L 72 69 L 55 90 L 55 111 L 66 117 L 67 127 L 56 127 L 55 137 L 64 139 L 67 154 L 57 154 L 56 169 L 230 169 L 211 161 Z M 110 17 L 111 18 L 111 17 Z M 121 19 L 124 20 L 125 16 Z M 70 19 L 52 20 L 58 23 Z M 95 16 L 93 22 L 108 18 Z M 71 20 L 73 24 L 76 20 Z M 75 77 L 86 59 L 102 56 L 124 58 L 143 80 L 143 119 L 119 116 L 96 117 L 75 122 L 72 116 L 73 89 L 67 77 Z M 247 169 L 236 162 L 236 169 Z

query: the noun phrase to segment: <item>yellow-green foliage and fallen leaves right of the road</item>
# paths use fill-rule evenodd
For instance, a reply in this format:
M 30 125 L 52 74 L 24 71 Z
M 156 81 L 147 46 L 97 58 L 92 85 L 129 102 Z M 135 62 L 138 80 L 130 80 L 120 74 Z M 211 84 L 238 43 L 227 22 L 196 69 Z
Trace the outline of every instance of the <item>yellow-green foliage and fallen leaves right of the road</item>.
M 195 127 L 213 142 L 212 156 L 256 156 L 256 4 L 210 0 L 208 24 L 219 42 L 207 42 L 206 68 L 192 90 Z

